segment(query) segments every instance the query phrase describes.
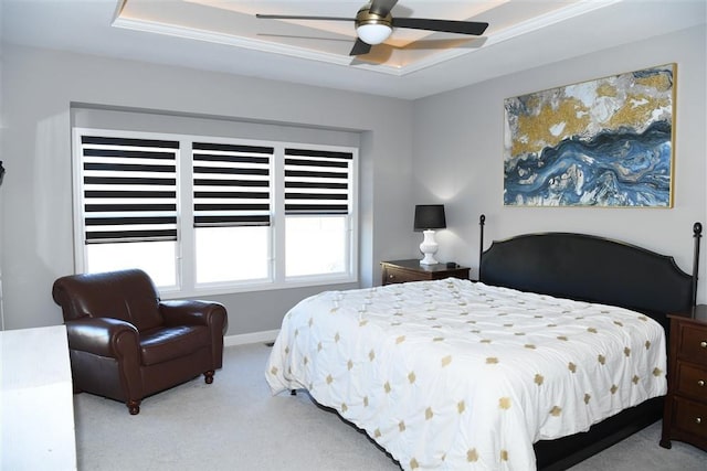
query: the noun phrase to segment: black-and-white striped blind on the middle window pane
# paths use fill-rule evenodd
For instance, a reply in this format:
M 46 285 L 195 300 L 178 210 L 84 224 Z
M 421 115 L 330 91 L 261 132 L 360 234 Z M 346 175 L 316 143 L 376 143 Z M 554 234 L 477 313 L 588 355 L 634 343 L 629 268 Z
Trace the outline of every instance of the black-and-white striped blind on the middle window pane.
M 192 143 L 194 227 L 270 225 L 273 147 Z

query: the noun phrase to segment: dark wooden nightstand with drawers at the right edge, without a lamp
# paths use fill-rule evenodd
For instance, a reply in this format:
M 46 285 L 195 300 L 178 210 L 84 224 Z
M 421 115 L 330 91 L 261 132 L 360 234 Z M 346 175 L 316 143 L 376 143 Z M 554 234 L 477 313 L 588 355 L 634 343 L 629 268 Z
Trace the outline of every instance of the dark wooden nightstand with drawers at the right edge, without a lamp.
M 671 440 L 707 450 L 707 306 L 668 314 L 667 396 L 661 447 Z

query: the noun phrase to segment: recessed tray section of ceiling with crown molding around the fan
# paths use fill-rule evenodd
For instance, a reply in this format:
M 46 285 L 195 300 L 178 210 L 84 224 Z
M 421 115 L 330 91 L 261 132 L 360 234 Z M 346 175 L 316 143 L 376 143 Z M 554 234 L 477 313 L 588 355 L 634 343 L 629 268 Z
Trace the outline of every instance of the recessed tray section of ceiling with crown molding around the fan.
M 468 54 L 488 43 L 520 35 L 611 2 L 579 0 L 402 1 L 395 18 L 433 18 L 488 22 L 484 36 L 397 29 L 371 53 L 349 56 L 356 40 L 354 19 L 360 1 L 123 0 L 115 26 L 176 34 L 238 47 L 285 54 L 331 64 L 405 75 Z M 351 21 L 263 20 L 256 13 L 350 18 Z

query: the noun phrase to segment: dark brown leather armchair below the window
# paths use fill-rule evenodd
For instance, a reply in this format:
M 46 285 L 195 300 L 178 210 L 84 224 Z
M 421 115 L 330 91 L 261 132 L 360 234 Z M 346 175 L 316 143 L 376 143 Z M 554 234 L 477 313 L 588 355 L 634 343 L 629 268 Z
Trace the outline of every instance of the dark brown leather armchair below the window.
M 68 335 L 75 392 L 126 403 L 201 374 L 207 384 L 223 362 L 225 308 L 211 301 L 161 301 L 138 269 L 59 278 L 52 288 Z

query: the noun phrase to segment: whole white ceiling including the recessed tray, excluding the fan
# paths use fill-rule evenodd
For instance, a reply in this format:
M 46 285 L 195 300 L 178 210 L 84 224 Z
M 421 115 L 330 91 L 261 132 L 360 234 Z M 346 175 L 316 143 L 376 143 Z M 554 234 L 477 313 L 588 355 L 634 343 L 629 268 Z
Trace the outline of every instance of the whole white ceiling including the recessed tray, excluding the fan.
M 706 0 L 400 0 L 395 18 L 488 22 L 483 36 L 395 29 L 351 57 L 365 0 L 0 0 L 3 42 L 415 99 L 707 22 Z

